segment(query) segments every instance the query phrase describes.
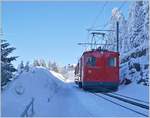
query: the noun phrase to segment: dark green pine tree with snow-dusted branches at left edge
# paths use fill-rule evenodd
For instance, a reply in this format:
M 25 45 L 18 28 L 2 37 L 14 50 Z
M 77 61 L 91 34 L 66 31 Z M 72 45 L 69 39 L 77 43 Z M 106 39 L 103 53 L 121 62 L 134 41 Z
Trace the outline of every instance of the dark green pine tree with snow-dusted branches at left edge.
M 1 87 L 7 84 L 16 71 L 11 62 L 16 60 L 17 56 L 8 57 L 16 48 L 9 46 L 6 40 L 1 40 Z

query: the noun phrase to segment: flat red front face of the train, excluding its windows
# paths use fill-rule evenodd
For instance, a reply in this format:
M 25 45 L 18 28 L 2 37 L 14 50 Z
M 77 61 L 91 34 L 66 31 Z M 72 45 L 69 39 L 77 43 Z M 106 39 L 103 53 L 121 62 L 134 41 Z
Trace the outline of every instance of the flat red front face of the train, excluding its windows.
M 89 52 L 84 54 L 84 62 L 89 56 L 96 57 L 96 66 L 91 67 L 84 63 L 84 78 L 83 81 L 100 81 L 100 82 L 117 82 L 119 81 L 119 55 L 116 52 Z M 107 60 L 110 57 L 117 58 L 117 66 L 109 67 Z

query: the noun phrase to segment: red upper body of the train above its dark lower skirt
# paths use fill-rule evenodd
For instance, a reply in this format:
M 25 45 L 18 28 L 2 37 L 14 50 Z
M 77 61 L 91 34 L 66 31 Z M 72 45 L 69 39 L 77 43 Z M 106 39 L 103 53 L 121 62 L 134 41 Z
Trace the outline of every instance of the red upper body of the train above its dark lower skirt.
M 87 62 L 91 57 L 93 65 L 88 65 Z M 109 61 L 113 62 L 113 66 Z M 119 53 L 99 50 L 84 52 L 76 66 L 77 74 L 79 75 L 77 83 L 119 83 Z

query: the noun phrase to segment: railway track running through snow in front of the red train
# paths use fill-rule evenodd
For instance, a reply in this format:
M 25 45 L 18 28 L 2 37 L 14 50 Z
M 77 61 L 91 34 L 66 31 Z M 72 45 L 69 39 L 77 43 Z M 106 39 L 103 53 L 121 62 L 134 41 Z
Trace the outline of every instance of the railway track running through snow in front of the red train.
M 148 110 L 149 110 L 149 105 L 148 102 L 147 104 L 142 104 L 141 100 L 134 100 L 131 98 L 128 98 L 128 96 L 120 96 L 119 94 L 113 94 L 113 93 L 93 93 L 90 92 L 91 94 L 94 94 L 95 96 L 105 99 L 115 105 L 118 105 L 120 107 L 123 107 L 125 109 L 128 109 L 132 112 L 135 112 L 141 116 L 148 117 Z M 137 102 L 138 101 L 138 102 Z

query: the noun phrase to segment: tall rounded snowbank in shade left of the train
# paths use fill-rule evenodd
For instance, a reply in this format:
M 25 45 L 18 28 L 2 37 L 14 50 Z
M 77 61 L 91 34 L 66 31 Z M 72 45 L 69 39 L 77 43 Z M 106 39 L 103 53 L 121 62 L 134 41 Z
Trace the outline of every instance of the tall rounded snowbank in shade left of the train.
M 35 106 L 51 100 L 63 82 L 44 68 L 23 72 L 2 92 L 2 116 L 20 116 L 32 98 Z

